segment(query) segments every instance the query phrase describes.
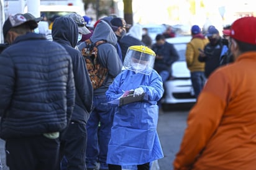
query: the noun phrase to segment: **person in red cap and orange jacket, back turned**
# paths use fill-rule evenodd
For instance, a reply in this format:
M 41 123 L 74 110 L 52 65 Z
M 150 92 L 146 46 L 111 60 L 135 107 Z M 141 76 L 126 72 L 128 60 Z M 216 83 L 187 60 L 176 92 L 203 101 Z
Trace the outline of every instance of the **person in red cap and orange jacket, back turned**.
M 255 169 L 256 17 L 231 26 L 234 63 L 209 77 L 188 115 L 174 169 Z

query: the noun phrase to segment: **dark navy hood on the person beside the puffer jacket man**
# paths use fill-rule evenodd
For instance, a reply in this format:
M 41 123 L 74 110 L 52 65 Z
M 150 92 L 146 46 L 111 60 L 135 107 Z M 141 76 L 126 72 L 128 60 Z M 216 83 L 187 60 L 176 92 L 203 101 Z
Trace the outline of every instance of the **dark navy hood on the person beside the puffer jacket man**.
M 54 41 L 70 42 L 75 47 L 78 41 L 78 26 L 70 17 L 58 17 L 52 25 L 52 38 Z

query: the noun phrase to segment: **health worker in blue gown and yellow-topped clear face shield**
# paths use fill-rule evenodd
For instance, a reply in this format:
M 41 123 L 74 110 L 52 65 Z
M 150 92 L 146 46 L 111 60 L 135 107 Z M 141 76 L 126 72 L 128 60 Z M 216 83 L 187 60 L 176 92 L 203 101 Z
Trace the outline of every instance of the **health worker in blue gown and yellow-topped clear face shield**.
M 155 53 L 150 48 L 135 45 L 128 48 L 124 59 L 124 71 L 114 79 L 106 91 L 107 101 L 133 92 L 148 99 L 119 106 L 114 114 L 111 140 L 108 145 L 109 169 L 137 165 L 149 169 L 150 162 L 163 158 L 157 135 L 158 105 L 163 96 L 162 78 L 153 69 Z

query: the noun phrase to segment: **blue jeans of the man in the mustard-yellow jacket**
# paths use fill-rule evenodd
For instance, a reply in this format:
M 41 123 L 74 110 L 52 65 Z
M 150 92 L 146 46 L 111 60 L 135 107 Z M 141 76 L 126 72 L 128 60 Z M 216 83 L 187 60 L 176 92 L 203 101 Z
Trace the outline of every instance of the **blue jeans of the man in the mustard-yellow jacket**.
M 198 98 L 199 93 L 204 87 L 206 82 L 206 77 L 204 76 L 203 71 L 194 71 L 191 72 L 191 82 L 194 89 L 194 96 Z

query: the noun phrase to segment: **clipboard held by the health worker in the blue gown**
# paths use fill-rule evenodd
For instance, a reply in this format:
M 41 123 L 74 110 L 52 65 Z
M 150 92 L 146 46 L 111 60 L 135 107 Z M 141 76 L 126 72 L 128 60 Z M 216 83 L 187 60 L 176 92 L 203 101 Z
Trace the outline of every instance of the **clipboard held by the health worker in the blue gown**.
M 133 102 L 142 102 L 142 101 L 148 101 L 148 100 L 149 100 L 149 95 L 142 93 L 139 96 L 134 96 L 134 92 L 132 91 L 126 97 L 121 97 L 119 99 L 118 106 L 130 104 Z

